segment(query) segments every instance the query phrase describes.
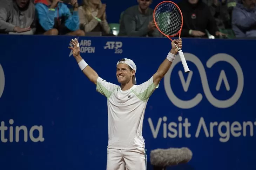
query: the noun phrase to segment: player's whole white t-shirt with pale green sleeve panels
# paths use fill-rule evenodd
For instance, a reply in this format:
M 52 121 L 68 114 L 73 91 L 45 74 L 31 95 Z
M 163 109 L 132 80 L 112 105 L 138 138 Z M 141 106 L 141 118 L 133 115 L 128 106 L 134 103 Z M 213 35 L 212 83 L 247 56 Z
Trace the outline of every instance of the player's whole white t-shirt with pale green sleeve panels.
M 142 124 L 146 105 L 155 89 L 153 76 L 129 90 L 97 79 L 96 91 L 107 97 L 108 105 L 108 148 L 136 149 L 145 147 Z

